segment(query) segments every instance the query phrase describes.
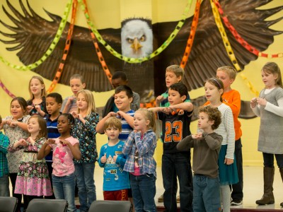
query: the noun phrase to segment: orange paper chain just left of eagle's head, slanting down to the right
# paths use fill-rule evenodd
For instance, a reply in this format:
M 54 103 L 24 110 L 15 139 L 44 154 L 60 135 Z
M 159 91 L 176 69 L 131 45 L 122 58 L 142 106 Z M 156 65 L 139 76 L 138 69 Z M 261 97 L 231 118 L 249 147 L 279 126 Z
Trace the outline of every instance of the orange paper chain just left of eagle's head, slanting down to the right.
M 88 8 L 86 6 L 86 0 L 83 0 L 83 5 L 85 6 L 83 13 L 88 13 Z M 96 48 L 96 54 L 98 56 L 100 64 L 103 67 L 103 71 L 104 71 L 105 75 L 107 76 L 108 81 L 110 82 L 110 84 L 112 84 L 112 81 L 111 81 L 112 74 L 111 74 L 110 70 L 108 69 L 108 66 L 106 64 L 106 61 L 105 61 L 103 55 L 102 55 L 102 52 L 100 51 L 100 48 L 98 46 L 98 42 L 97 42 L 97 39 L 96 39 L 96 35 L 93 34 L 89 25 L 88 25 L 88 28 L 91 31 L 91 39 L 93 40 L 93 45 Z

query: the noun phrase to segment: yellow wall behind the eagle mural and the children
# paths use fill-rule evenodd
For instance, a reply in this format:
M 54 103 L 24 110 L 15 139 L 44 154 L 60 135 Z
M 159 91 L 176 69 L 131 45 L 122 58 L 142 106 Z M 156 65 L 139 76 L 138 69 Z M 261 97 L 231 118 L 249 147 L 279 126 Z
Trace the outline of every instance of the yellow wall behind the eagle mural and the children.
M 18 0 L 10 1 L 13 6 L 20 9 L 18 4 Z M 25 3 L 25 2 L 24 2 Z M 30 0 L 30 6 L 34 9 L 34 11 L 40 16 L 44 18 L 48 18 L 45 10 L 50 11 L 51 13 L 62 16 L 64 12 L 65 4 L 67 0 L 57 1 L 37 1 Z M 88 10 L 91 13 L 91 20 L 96 25 L 96 28 L 120 28 L 120 22 L 123 18 L 128 17 L 140 17 L 143 16 L 145 18 L 152 18 L 152 22 L 162 22 L 162 21 L 172 21 L 179 20 L 182 16 L 183 9 L 186 5 L 186 0 L 145 0 L 145 1 L 137 1 L 137 0 L 88 0 Z M 1 1 L 1 5 L 6 6 L 6 1 Z M 272 1 L 272 4 L 269 4 L 265 7 L 274 7 L 282 5 L 281 0 Z M 195 1 L 193 1 L 192 8 L 190 9 L 190 16 L 194 11 Z M 264 8 L 264 7 L 262 7 Z M 8 9 L 9 11 L 9 9 Z M 272 19 L 276 17 L 282 17 L 283 11 L 280 11 Z M 4 20 L 6 23 L 11 23 L 3 11 L 0 11 L 0 19 Z M 76 25 L 82 25 L 86 27 L 86 21 L 81 12 L 81 9 L 78 8 L 78 14 L 76 18 Z M 283 30 L 282 28 L 283 20 L 272 26 L 272 29 L 275 30 Z M 3 25 L 0 24 L 0 30 L 6 33 L 9 33 Z M 2 35 L 0 35 L 0 39 L 6 39 Z M 278 35 L 275 37 L 275 42 L 270 46 L 266 53 L 278 53 L 282 52 L 283 49 L 283 35 Z M 16 52 L 8 52 L 6 51 L 7 46 L 0 42 L 0 56 L 4 57 L 8 61 L 11 61 L 12 64 L 21 65 L 21 62 L 16 57 Z M 282 58 L 280 59 L 265 59 L 259 58 L 256 61 L 251 61 L 248 66 L 245 67 L 243 73 L 250 83 L 255 86 L 255 89 L 260 91 L 263 87 L 261 77 L 260 77 L 260 69 L 267 61 L 275 61 L 279 64 L 281 70 L 283 71 Z M 0 62 L 0 79 L 4 82 L 5 86 L 11 90 L 11 92 L 17 96 L 23 96 L 23 98 L 28 99 L 28 81 L 31 76 L 35 75 L 32 71 L 17 71 L 16 69 L 11 69 L 10 67 L 2 64 Z M 51 81 L 45 79 L 45 85 L 48 88 L 50 86 Z M 233 84 L 233 88 L 239 90 L 243 100 L 250 100 L 254 97 L 253 93 L 247 86 L 247 82 L 241 78 L 241 76 L 237 76 L 235 83 Z M 54 92 L 61 93 L 63 98 L 67 95 L 71 95 L 71 89 L 69 86 L 58 85 Z M 109 96 L 112 94 L 112 91 L 106 93 L 94 93 L 96 105 L 98 107 L 102 107 Z M 190 96 L 192 98 L 197 98 L 200 95 L 204 95 L 203 88 L 199 88 L 197 90 L 192 90 L 190 92 Z M 11 102 L 11 98 L 4 93 L 4 90 L 0 88 L 0 114 L 2 117 L 6 117 L 9 114 L 9 105 Z M 242 123 L 242 143 L 243 143 L 243 160 L 244 165 L 261 165 L 262 164 L 262 156 L 261 153 L 257 151 L 257 140 L 258 140 L 258 130 L 260 119 L 241 119 Z M 196 122 L 192 122 L 191 131 L 196 131 Z M 100 146 L 105 143 L 107 139 L 105 136 L 98 135 L 98 149 Z M 158 164 L 161 164 L 161 154 L 162 154 L 162 145 L 161 142 L 158 143 L 158 148 L 156 149 L 156 160 Z

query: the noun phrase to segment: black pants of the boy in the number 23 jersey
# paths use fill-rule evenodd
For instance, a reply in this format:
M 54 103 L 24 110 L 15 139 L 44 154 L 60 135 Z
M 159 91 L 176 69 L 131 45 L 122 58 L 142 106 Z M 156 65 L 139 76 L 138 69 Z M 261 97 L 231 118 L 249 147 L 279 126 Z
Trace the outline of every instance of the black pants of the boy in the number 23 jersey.
M 177 177 L 180 184 L 180 211 L 192 211 L 192 168 L 190 153 L 163 153 L 162 177 L 166 211 L 177 211 Z

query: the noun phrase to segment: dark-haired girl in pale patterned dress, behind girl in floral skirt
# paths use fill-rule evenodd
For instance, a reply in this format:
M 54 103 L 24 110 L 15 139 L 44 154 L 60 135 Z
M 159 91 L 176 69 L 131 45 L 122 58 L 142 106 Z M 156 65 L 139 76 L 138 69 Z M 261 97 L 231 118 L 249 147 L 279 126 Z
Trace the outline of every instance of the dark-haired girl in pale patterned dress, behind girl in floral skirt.
M 10 112 L 11 116 L 6 117 L 0 124 L 0 129 L 4 129 L 6 136 L 10 140 L 10 145 L 13 146 L 16 141 L 21 138 L 28 138 L 28 119 L 30 118 L 27 111 L 27 102 L 24 98 L 16 97 L 11 100 Z M 7 153 L 9 177 L 12 184 L 12 194 L 18 199 L 16 211 L 20 211 L 22 194 L 15 194 L 16 178 L 18 175 L 18 165 L 23 158 L 23 150 L 16 153 Z M 23 200 L 26 204 L 26 199 Z

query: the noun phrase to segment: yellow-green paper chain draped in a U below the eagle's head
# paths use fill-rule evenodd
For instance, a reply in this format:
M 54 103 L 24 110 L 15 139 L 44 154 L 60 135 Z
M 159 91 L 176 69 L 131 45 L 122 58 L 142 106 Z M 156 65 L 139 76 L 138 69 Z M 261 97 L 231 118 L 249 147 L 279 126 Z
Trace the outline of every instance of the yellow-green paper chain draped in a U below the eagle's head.
M 81 3 L 81 2 L 82 2 L 82 0 L 79 0 L 79 3 Z M 110 52 L 113 56 L 117 57 L 118 59 L 122 59 L 123 61 L 126 61 L 127 63 L 137 64 L 137 63 L 141 63 L 143 61 L 148 61 L 149 59 L 156 57 L 158 54 L 163 52 L 163 50 L 166 49 L 166 47 L 168 47 L 168 45 L 172 42 L 172 40 L 174 40 L 175 36 L 178 34 L 178 32 L 182 28 L 183 24 L 185 23 L 185 18 L 187 17 L 187 14 L 190 11 L 191 6 L 192 6 L 192 0 L 188 0 L 181 20 L 178 22 L 178 24 L 175 27 L 175 30 L 173 30 L 173 32 L 168 37 L 168 39 L 165 42 L 163 42 L 161 47 L 158 47 L 158 49 L 156 49 L 148 57 L 141 57 L 141 58 L 125 57 L 122 54 L 115 51 L 115 49 L 113 49 L 110 45 L 108 45 L 107 42 L 105 42 L 105 40 L 103 40 L 103 37 L 100 35 L 100 33 L 98 33 L 98 30 L 94 27 L 93 23 L 90 20 L 89 13 L 86 11 L 85 1 L 83 1 L 83 4 L 81 4 L 81 9 L 85 14 L 85 17 L 86 17 L 86 20 L 87 20 L 87 23 L 88 23 L 88 28 L 91 29 L 93 34 L 96 35 L 96 39 L 98 40 L 98 42 L 100 42 L 105 47 L 105 49 L 108 50 L 108 52 Z

